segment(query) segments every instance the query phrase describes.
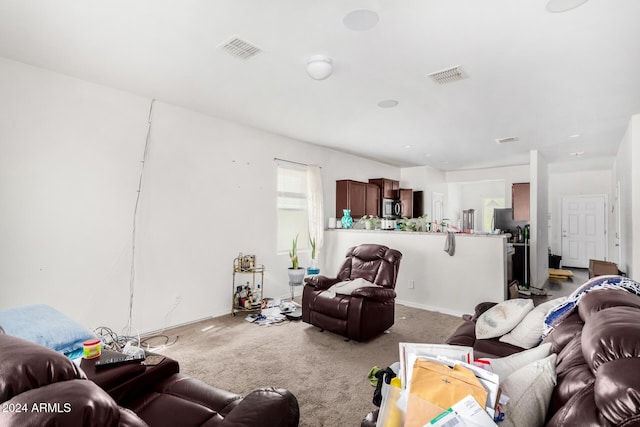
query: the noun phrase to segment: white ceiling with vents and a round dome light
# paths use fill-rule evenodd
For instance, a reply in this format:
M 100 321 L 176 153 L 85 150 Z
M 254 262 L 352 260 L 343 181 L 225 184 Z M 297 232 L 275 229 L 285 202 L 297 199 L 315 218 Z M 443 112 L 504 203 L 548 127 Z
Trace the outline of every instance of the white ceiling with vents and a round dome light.
M 640 1 L 546 2 L 0 0 L 0 56 L 397 166 L 610 161 L 640 113 Z M 377 25 L 346 28 L 358 9 Z M 262 52 L 230 56 L 234 36 Z

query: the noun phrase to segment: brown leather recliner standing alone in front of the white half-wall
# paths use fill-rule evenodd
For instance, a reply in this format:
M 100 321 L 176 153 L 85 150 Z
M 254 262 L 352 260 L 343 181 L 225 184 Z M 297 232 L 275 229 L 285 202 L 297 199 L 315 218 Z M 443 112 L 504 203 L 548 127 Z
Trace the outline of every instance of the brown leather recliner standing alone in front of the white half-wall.
M 394 322 L 396 279 L 402 254 L 383 245 L 350 248 L 337 277 L 305 278 L 302 320 L 356 341 L 366 341 Z M 327 290 L 338 282 L 362 278 L 377 286 L 351 291 L 350 295 Z

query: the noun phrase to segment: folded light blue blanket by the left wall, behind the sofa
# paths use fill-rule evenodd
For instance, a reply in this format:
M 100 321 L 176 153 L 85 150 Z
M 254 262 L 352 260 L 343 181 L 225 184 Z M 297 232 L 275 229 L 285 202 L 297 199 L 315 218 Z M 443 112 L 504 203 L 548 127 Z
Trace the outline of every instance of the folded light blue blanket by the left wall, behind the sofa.
M 95 338 L 87 328 L 48 305 L 29 305 L 0 311 L 0 326 L 8 335 L 42 344 L 75 358 L 84 341 Z

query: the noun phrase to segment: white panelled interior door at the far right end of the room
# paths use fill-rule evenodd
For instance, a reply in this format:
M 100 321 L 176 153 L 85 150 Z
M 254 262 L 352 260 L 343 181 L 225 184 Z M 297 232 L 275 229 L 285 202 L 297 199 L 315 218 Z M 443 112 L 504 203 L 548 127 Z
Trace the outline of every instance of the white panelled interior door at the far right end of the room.
M 606 260 L 606 195 L 562 198 L 562 265 L 589 267 L 590 259 Z

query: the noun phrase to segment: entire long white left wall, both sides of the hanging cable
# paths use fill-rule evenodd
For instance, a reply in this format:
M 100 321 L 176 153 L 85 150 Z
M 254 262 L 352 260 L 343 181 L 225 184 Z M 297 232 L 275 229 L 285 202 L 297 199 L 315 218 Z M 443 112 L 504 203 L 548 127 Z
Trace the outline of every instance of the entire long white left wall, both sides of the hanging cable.
M 87 327 L 128 320 L 133 208 L 151 100 L 0 59 L 0 309 L 48 303 Z M 286 296 L 274 157 L 335 180 L 398 168 L 156 102 L 136 243 L 141 332 L 230 313 L 239 252 Z M 301 263 L 308 262 L 301 254 Z

